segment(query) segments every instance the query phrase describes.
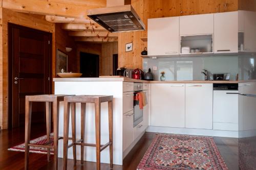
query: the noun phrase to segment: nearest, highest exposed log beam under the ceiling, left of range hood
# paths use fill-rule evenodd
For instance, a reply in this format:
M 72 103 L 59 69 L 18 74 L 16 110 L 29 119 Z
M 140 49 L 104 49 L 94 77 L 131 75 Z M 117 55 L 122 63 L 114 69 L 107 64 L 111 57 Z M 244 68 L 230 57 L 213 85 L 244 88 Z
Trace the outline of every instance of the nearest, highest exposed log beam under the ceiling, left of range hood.
M 52 15 L 46 15 L 46 20 L 53 23 L 95 23 L 93 20 L 90 20 L 89 18 L 70 18 Z

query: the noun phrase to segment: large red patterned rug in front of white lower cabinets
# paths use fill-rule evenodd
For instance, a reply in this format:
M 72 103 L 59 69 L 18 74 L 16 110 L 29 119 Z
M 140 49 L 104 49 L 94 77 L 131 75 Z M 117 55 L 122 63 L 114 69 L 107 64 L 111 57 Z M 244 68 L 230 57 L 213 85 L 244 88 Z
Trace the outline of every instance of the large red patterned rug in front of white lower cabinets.
M 212 137 L 157 134 L 137 170 L 227 170 Z

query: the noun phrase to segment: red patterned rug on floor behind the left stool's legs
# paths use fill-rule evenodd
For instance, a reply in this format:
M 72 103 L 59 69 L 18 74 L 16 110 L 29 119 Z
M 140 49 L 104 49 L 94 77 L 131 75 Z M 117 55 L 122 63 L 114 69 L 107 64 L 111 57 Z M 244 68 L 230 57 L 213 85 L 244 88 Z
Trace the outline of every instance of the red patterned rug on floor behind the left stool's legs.
M 53 133 L 51 133 L 50 140 L 53 140 Z M 30 140 L 30 143 L 33 144 L 45 144 L 47 142 L 47 137 L 40 136 L 38 138 L 35 138 L 33 140 Z M 53 143 L 52 143 L 53 145 Z M 25 152 L 25 143 L 18 144 L 15 147 L 9 148 L 8 151 L 19 151 L 19 152 Z M 47 154 L 47 148 L 40 148 L 40 147 L 30 147 L 29 148 L 30 153 L 39 153 L 39 154 Z M 53 149 L 50 150 L 51 155 L 53 155 Z

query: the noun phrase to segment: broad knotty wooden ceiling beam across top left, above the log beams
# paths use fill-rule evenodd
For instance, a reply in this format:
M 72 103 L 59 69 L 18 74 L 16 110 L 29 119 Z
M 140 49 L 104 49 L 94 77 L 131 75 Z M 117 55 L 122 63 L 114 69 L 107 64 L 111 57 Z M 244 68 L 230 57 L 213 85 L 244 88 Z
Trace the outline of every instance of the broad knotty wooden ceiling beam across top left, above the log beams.
M 66 0 L 67 1 L 67 0 Z M 102 4 L 92 4 L 92 1 L 84 1 L 84 5 L 65 4 L 59 1 L 42 1 L 42 0 L 3 0 L 3 8 L 17 12 L 54 15 L 73 18 L 87 18 L 87 11 L 94 8 L 105 7 Z

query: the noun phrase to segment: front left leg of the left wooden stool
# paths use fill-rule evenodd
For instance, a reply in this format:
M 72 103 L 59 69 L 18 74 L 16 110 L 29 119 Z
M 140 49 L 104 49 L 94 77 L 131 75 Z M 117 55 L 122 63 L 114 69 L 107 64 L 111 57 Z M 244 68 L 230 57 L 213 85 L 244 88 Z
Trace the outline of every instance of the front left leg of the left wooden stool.
M 25 169 L 29 168 L 29 143 L 30 143 L 30 128 L 31 128 L 31 112 L 32 102 L 26 98 L 25 104 Z

